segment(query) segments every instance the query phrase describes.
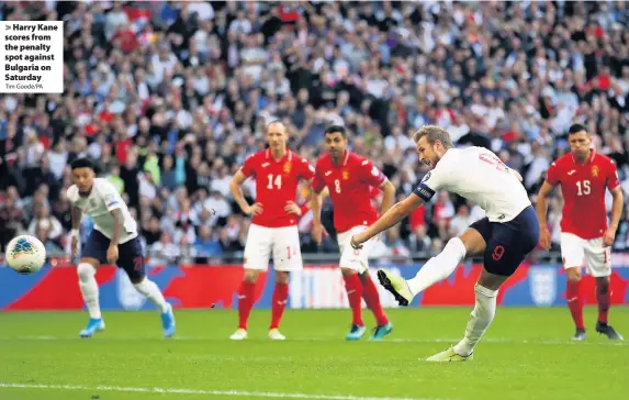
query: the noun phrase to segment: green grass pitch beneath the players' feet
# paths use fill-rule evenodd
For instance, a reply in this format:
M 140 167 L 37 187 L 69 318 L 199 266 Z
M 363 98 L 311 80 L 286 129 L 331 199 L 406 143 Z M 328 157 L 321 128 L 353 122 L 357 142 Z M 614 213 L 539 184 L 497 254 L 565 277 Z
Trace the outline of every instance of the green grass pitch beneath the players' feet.
M 179 311 L 172 340 L 154 312 L 105 312 L 90 340 L 82 312 L 1 313 L 0 400 L 629 399 L 629 342 L 596 334 L 594 308 L 584 343 L 568 309 L 499 308 L 473 362 L 422 360 L 461 337 L 470 311 L 390 310 L 383 342 L 346 342 L 349 310 L 287 310 L 285 342 L 267 340 L 259 310 L 245 342 L 227 338 L 235 310 Z M 610 322 L 629 336 L 629 308 Z

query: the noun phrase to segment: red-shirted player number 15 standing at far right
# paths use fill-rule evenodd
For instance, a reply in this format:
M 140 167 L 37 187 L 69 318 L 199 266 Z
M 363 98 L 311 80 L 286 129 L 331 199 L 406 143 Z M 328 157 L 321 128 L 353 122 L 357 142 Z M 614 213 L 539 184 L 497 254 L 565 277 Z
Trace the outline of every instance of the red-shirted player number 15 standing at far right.
M 596 332 L 609 338 L 622 338 L 607 323 L 610 305 L 609 276 L 611 275 L 610 246 L 614 244 L 622 213 L 622 190 L 616 164 L 592 148 L 592 137 L 585 126 L 570 127 L 571 153 L 551 164 L 546 181 L 539 190 L 537 214 L 541 227 L 540 245 L 550 248 L 550 233 L 546 226 L 547 197 L 561 185 L 564 205 L 561 218 L 561 256 L 568 275 L 565 297 L 576 325 L 574 341 L 585 338 L 583 302 L 580 293 L 581 267 L 596 279 L 598 322 Z M 611 222 L 607 226 L 605 189 L 614 197 Z

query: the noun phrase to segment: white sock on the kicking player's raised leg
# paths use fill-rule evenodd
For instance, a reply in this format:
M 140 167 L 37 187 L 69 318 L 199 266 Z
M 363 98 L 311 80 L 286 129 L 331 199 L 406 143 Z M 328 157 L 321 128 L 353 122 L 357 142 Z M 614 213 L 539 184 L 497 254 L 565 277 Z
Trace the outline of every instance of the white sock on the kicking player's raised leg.
M 429 286 L 446 279 L 465 258 L 465 245 L 459 237 L 452 237 L 437 256 L 430 258 L 419 269 L 415 278 L 408 279 L 408 288 L 413 295 L 426 290 Z

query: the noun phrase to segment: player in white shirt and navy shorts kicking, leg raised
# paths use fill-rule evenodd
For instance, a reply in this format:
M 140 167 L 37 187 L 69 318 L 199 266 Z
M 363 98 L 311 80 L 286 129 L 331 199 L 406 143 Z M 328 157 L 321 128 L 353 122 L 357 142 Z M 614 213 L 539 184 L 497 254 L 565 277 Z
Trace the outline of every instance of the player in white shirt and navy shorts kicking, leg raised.
M 405 280 L 382 269 L 378 278 L 401 305 L 433 284 L 446 279 L 465 255 L 483 255 L 483 270 L 475 285 L 476 303 L 465 329 L 465 336 L 454 346 L 427 358 L 429 362 L 472 359 L 474 347 L 496 312 L 501 285 L 512 276 L 539 240 L 539 222 L 521 176 L 505 166 L 488 149 L 453 148 L 450 134 L 435 125 L 422 127 L 414 136 L 423 163 L 430 166 L 419 187 L 393 205 L 368 230 L 355 235 L 351 244 L 362 243 L 395 225 L 411 211 L 445 189 L 471 200 L 487 216 L 474 222 L 459 237 L 451 238 L 443 251 L 430 258 L 415 278 Z

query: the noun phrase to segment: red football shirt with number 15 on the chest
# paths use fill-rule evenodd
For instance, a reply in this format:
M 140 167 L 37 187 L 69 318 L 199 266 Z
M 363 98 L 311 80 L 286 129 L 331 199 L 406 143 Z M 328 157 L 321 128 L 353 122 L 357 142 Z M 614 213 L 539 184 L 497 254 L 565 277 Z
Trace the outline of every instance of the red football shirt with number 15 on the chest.
M 593 149 L 582 165 L 566 154 L 552 163 L 546 180 L 552 186 L 561 185 L 561 232 L 587 240 L 603 237 L 607 229 L 605 188 L 611 190 L 620 185 L 614 160 Z

